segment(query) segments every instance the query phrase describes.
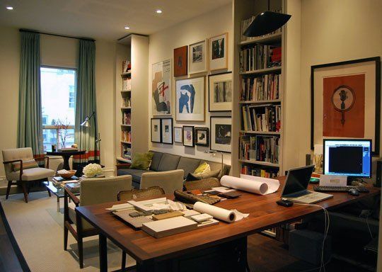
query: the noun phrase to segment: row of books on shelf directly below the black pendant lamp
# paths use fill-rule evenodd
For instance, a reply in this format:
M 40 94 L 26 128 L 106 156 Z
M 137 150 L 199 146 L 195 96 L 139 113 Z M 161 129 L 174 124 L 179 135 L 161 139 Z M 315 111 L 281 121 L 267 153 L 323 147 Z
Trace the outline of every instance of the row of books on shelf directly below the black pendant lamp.
M 277 57 L 272 59 L 272 56 Z M 281 66 L 281 47 L 255 44 L 240 52 L 240 72 L 279 66 Z

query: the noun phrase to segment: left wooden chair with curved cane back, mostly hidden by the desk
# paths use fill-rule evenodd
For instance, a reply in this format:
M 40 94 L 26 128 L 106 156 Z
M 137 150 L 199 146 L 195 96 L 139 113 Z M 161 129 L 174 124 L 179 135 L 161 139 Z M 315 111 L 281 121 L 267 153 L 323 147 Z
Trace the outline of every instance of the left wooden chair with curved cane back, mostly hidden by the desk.
M 132 200 L 135 198 L 149 198 L 149 197 L 156 197 L 156 196 L 163 196 L 165 194 L 165 191 L 163 188 L 159 186 L 152 186 L 149 188 L 137 190 L 137 189 L 132 189 L 129 191 L 120 191 L 117 194 L 117 200 L 118 201 L 127 201 L 127 200 Z M 122 252 L 122 272 L 126 271 L 126 252 Z

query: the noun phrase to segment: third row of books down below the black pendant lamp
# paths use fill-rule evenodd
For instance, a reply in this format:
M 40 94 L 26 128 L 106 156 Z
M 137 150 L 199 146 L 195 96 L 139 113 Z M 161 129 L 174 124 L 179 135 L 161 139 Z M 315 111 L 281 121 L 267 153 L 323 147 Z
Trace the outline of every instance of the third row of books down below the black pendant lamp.
M 281 128 L 280 105 L 242 106 L 242 130 L 279 132 Z

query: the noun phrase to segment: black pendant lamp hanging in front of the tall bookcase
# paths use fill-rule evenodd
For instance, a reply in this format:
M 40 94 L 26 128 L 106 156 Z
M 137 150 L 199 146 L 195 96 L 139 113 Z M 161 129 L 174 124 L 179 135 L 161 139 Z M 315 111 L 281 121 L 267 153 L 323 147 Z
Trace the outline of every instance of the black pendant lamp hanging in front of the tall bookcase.
M 264 11 L 253 19 L 252 23 L 244 31 L 246 37 L 257 37 L 281 28 L 291 18 L 291 15 L 270 11 L 270 0 L 268 0 L 268 11 Z

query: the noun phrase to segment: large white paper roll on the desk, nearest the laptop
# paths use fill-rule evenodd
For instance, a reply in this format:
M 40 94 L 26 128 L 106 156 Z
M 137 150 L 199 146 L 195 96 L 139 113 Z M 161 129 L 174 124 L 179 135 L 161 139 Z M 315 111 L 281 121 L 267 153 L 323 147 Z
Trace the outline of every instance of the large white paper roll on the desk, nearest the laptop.
M 266 179 L 260 176 L 249 176 L 241 174 L 240 178 L 234 176 L 222 176 L 221 185 L 246 191 L 249 193 L 257 193 L 259 195 L 267 195 L 274 193 L 280 186 L 277 179 Z

